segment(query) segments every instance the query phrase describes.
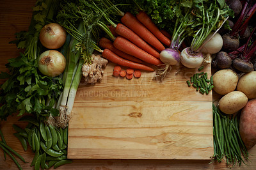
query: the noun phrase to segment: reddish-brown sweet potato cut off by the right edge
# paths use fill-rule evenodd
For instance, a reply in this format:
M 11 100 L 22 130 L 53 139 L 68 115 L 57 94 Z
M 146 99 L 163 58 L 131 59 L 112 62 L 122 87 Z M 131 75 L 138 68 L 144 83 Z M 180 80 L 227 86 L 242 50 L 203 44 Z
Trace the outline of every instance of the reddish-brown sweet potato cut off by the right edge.
M 243 108 L 239 122 L 239 133 L 247 148 L 250 150 L 256 144 L 256 99 L 249 100 Z

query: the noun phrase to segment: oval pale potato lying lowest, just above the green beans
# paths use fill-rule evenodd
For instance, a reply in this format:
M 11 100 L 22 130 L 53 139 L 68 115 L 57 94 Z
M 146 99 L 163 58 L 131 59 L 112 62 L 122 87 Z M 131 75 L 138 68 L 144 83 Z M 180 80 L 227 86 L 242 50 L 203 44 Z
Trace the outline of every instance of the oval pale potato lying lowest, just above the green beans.
M 248 98 L 241 91 L 232 91 L 219 101 L 219 108 L 225 114 L 234 114 L 247 104 Z

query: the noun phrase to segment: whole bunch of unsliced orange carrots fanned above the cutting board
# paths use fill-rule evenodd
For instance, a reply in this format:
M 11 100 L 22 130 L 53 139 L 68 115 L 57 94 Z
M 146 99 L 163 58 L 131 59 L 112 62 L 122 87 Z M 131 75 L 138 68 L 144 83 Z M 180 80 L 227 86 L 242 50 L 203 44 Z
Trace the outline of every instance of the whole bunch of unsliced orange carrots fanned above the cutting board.
M 121 23 L 110 26 L 114 42 L 101 38 L 99 45 L 104 48 L 102 57 L 120 66 L 137 70 L 153 72 L 150 65 L 163 64 L 159 60 L 159 52 L 170 46 L 170 39 L 164 36 L 145 12 L 134 17 L 130 12 L 125 13 Z M 164 44 L 164 45 L 163 45 Z

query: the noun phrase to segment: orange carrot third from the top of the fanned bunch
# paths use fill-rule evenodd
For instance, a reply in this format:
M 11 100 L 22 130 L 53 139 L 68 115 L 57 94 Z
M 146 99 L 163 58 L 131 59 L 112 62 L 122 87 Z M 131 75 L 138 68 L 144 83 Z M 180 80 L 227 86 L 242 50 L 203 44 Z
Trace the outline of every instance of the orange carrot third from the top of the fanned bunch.
M 117 24 L 116 33 L 120 36 L 124 36 L 127 40 L 130 40 L 132 43 L 145 50 L 148 54 L 151 54 L 155 58 L 159 58 L 160 54 L 155 49 L 150 47 L 147 42 L 142 40 L 140 36 L 136 35 L 131 29 L 124 26 L 123 24 Z

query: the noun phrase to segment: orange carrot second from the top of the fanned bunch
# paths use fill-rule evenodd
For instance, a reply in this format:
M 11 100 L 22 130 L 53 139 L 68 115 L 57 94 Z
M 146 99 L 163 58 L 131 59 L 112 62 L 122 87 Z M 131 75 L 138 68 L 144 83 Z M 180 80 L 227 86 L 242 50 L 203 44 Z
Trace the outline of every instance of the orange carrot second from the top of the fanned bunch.
M 147 27 L 143 26 L 130 12 L 126 12 L 124 17 L 121 18 L 121 21 L 125 26 L 129 27 L 129 29 L 145 40 L 145 42 L 156 47 L 157 50 L 162 51 L 165 49 L 163 44 L 157 40 L 156 36 L 152 35 Z

